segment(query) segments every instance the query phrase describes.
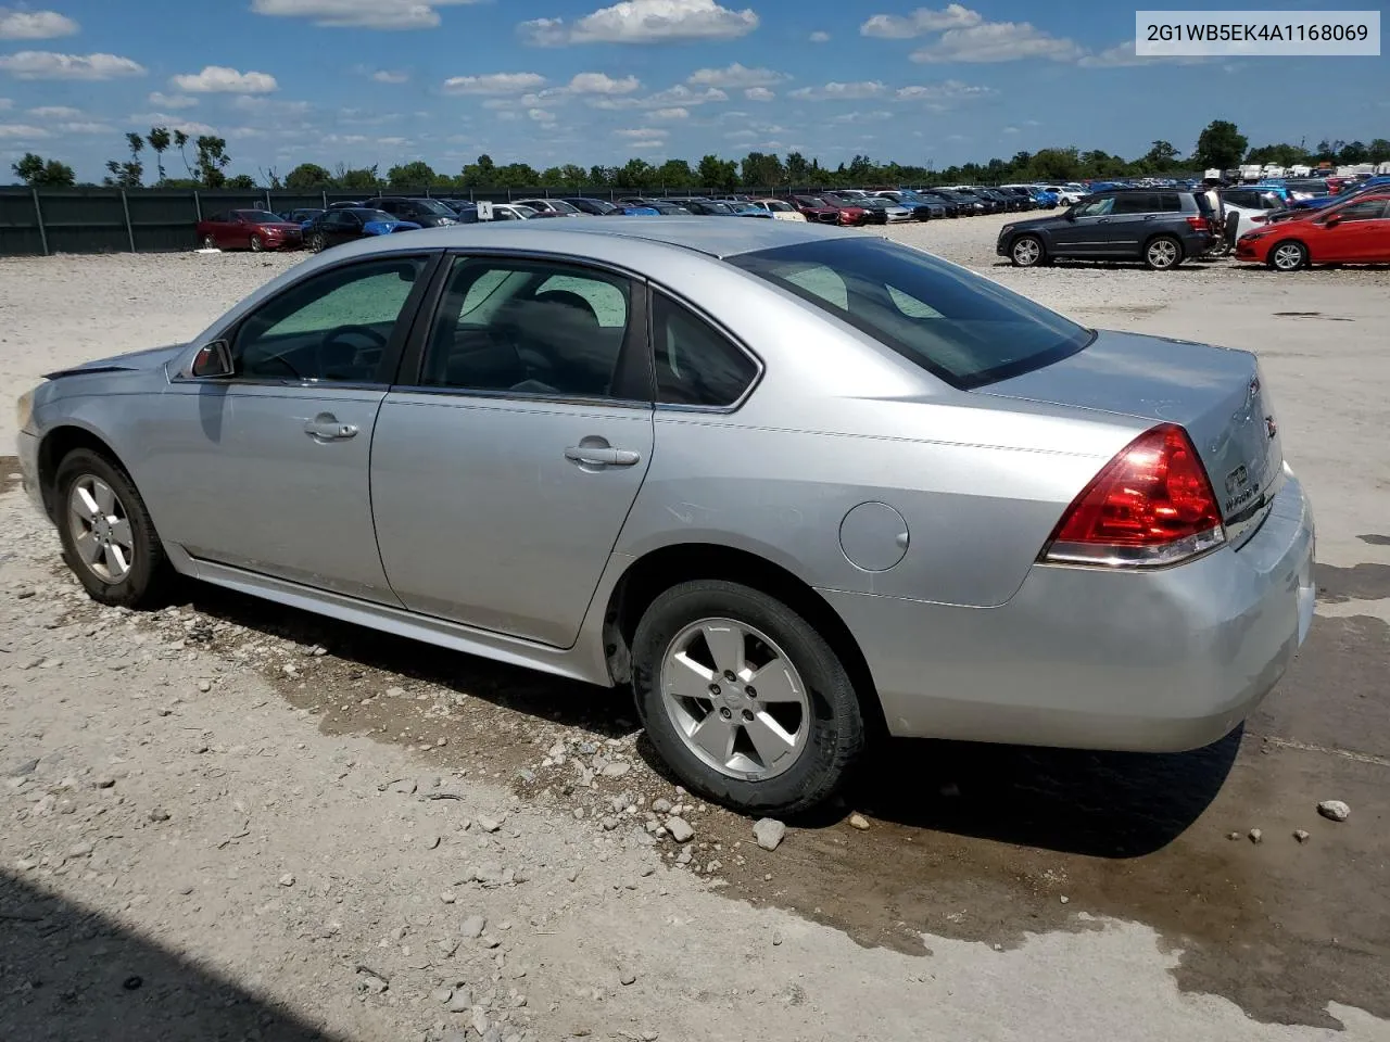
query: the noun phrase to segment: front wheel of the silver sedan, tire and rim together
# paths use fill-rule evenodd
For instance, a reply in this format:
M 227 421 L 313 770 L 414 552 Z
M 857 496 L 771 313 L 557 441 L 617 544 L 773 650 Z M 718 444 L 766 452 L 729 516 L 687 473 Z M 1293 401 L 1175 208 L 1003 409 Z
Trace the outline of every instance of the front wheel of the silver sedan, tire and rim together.
M 63 556 L 90 597 L 149 607 L 168 592 L 172 567 L 135 482 L 90 449 L 74 449 L 56 475 Z

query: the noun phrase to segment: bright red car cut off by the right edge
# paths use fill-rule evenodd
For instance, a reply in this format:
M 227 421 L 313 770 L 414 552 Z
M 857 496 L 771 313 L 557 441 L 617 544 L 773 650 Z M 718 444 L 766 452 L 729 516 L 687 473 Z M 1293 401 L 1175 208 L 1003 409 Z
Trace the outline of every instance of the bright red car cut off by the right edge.
M 1307 217 L 1245 232 L 1236 260 L 1298 271 L 1309 264 L 1390 264 L 1390 192 L 1366 192 Z

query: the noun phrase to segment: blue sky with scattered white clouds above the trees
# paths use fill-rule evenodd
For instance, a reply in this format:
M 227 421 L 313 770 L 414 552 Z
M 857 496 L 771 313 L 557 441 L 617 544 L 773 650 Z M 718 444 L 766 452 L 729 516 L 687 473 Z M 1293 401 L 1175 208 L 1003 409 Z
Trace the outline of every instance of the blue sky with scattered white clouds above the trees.
M 0 0 L 0 169 L 32 150 L 99 179 L 153 124 L 222 135 L 229 172 L 282 175 L 457 172 L 482 151 L 940 168 L 1159 138 L 1186 153 L 1212 118 L 1252 144 L 1390 136 L 1390 58 L 1140 60 L 1133 35 L 1133 6 L 1090 0 Z

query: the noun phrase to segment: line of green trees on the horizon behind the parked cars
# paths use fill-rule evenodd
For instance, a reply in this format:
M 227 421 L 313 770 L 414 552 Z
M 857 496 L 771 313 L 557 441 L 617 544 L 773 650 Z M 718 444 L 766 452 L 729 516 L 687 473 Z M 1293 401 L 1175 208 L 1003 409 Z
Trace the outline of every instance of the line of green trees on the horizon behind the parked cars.
M 926 183 L 1001 183 L 1008 181 L 1084 181 L 1094 178 L 1145 176 L 1179 172 L 1201 172 L 1218 168 L 1230 169 L 1241 163 L 1350 165 L 1358 163 L 1390 161 L 1390 140 L 1375 138 L 1369 143 L 1359 140 L 1322 140 L 1316 147 L 1300 144 L 1262 144 L 1251 147 L 1250 140 L 1226 119 L 1213 119 L 1197 138 L 1191 154 L 1183 153 L 1170 142 L 1156 140 L 1150 150 L 1136 158 L 1125 158 L 1104 150 L 1081 151 L 1074 146 L 1047 147 L 1037 151 L 1017 151 L 1012 158 L 992 158 L 987 163 L 966 163 L 934 169 L 931 167 L 902 165 L 898 163 L 877 163 L 869 156 L 855 156 L 849 163 L 824 167 L 820 160 L 806 158 L 799 151 L 788 153 L 785 158 L 776 153 L 749 151 L 741 160 L 726 160 L 709 154 L 698 163 L 688 160 L 666 160 L 652 164 L 644 158 L 631 158 L 620 167 L 564 164 L 538 169 L 527 163 L 496 164 L 491 156 L 482 154 L 474 163 L 464 164 L 457 174 L 436 172 L 428 163 L 414 160 L 391 167 L 381 174 L 375 165 L 350 168 L 338 164 L 334 169 L 317 163 L 302 163 L 289 171 L 284 179 L 275 169 L 227 176 L 231 158 L 227 142 L 215 135 L 200 135 L 190 139 L 182 131 L 164 126 L 150 128 L 149 133 L 126 133 L 128 158 L 108 160 L 103 183 L 114 188 L 138 189 L 145 186 L 145 149 L 154 156 L 157 178 L 156 188 L 208 188 L 240 189 L 259 188 L 289 189 L 295 192 L 348 190 L 371 192 L 379 189 L 616 189 L 616 190 L 689 190 L 721 189 L 733 192 L 739 188 L 780 186 L 852 186 L 870 183 L 926 185 Z M 182 160 L 188 176 L 171 178 L 164 168 L 164 154 L 174 150 Z M 192 149 L 192 158 L 189 150 Z M 26 153 L 11 165 L 15 176 L 35 188 L 71 188 L 76 183 L 72 168 L 58 160 L 46 160 L 35 153 Z

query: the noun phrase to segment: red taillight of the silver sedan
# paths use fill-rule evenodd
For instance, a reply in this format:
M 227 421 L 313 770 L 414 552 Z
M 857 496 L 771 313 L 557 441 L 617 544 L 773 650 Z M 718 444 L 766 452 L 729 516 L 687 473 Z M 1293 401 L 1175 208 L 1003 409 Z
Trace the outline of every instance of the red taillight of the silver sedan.
M 1081 489 L 1040 560 L 1155 567 L 1226 542 L 1220 508 L 1191 439 L 1175 424 L 1145 431 Z

